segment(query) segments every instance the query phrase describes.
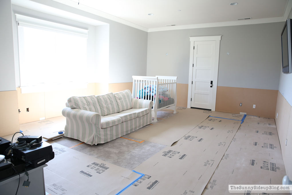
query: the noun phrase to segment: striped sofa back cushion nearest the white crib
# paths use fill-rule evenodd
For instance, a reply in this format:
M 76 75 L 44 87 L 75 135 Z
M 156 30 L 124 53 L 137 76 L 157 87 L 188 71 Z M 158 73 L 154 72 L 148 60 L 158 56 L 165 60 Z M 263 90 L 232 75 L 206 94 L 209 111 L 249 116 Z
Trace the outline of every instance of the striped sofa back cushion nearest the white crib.
M 129 89 L 114 93 L 114 98 L 117 101 L 119 112 L 131 109 L 132 105 L 132 94 Z

